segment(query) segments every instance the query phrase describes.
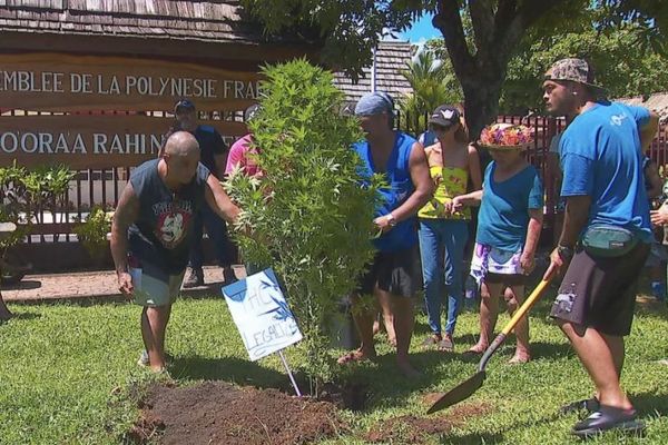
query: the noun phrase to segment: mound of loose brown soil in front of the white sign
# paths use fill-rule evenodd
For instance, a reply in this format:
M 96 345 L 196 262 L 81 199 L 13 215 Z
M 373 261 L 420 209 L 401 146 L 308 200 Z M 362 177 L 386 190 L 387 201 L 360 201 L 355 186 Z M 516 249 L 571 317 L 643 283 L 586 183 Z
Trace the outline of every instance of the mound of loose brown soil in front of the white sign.
M 155 386 L 128 436 L 139 444 L 307 444 L 345 432 L 336 407 L 277 389 L 207 382 L 186 388 Z

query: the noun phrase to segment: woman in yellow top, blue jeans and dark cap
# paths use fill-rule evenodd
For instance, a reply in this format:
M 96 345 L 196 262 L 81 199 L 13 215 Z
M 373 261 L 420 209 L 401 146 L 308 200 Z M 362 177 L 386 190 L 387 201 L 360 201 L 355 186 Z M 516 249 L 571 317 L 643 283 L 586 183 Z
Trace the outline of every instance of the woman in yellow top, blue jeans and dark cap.
M 452 335 L 462 299 L 462 265 L 469 238 L 468 208 L 452 211 L 452 198 L 482 188 L 480 159 L 455 107 L 440 106 L 429 119 L 436 142 L 425 148 L 429 169 L 435 185 L 432 199 L 419 211 L 420 254 L 424 278 L 424 300 L 432 334 L 423 346 L 453 349 Z M 448 295 L 448 323 L 441 330 L 443 290 Z

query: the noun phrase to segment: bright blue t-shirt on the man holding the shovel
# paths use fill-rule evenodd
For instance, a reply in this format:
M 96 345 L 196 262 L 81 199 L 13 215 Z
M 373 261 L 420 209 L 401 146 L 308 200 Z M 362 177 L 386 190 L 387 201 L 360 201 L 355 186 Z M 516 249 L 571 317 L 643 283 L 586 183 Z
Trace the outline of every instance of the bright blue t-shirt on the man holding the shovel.
M 652 235 L 639 128 L 648 120 L 646 108 L 599 102 L 576 117 L 559 145 L 561 196 L 591 197 L 587 225 L 626 227 L 647 243 Z

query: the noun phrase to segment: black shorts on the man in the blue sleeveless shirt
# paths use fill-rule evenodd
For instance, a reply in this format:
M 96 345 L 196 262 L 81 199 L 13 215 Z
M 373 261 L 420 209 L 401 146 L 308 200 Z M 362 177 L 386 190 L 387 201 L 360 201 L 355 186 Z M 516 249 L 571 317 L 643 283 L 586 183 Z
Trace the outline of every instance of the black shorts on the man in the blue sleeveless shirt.
M 372 295 L 374 287 L 392 295 L 413 297 L 422 288 L 422 270 L 418 247 L 396 251 L 379 251 L 361 277 L 357 293 Z

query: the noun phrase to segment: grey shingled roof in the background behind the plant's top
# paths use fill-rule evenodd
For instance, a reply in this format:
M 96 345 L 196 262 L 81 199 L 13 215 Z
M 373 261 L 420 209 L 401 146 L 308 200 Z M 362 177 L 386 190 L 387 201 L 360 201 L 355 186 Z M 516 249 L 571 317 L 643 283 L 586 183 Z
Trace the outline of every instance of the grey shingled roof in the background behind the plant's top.
M 375 90 L 389 92 L 395 101 L 404 95 L 413 92 L 409 81 L 400 72 L 413 57 L 414 48 L 411 42 L 381 41 L 376 50 Z M 370 60 L 371 63 L 371 60 Z M 335 73 L 334 83 L 345 92 L 346 99 L 356 102 L 362 96 L 372 90 L 371 69 L 364 68 L 364 77 L 354 83 L 344 73 Z

